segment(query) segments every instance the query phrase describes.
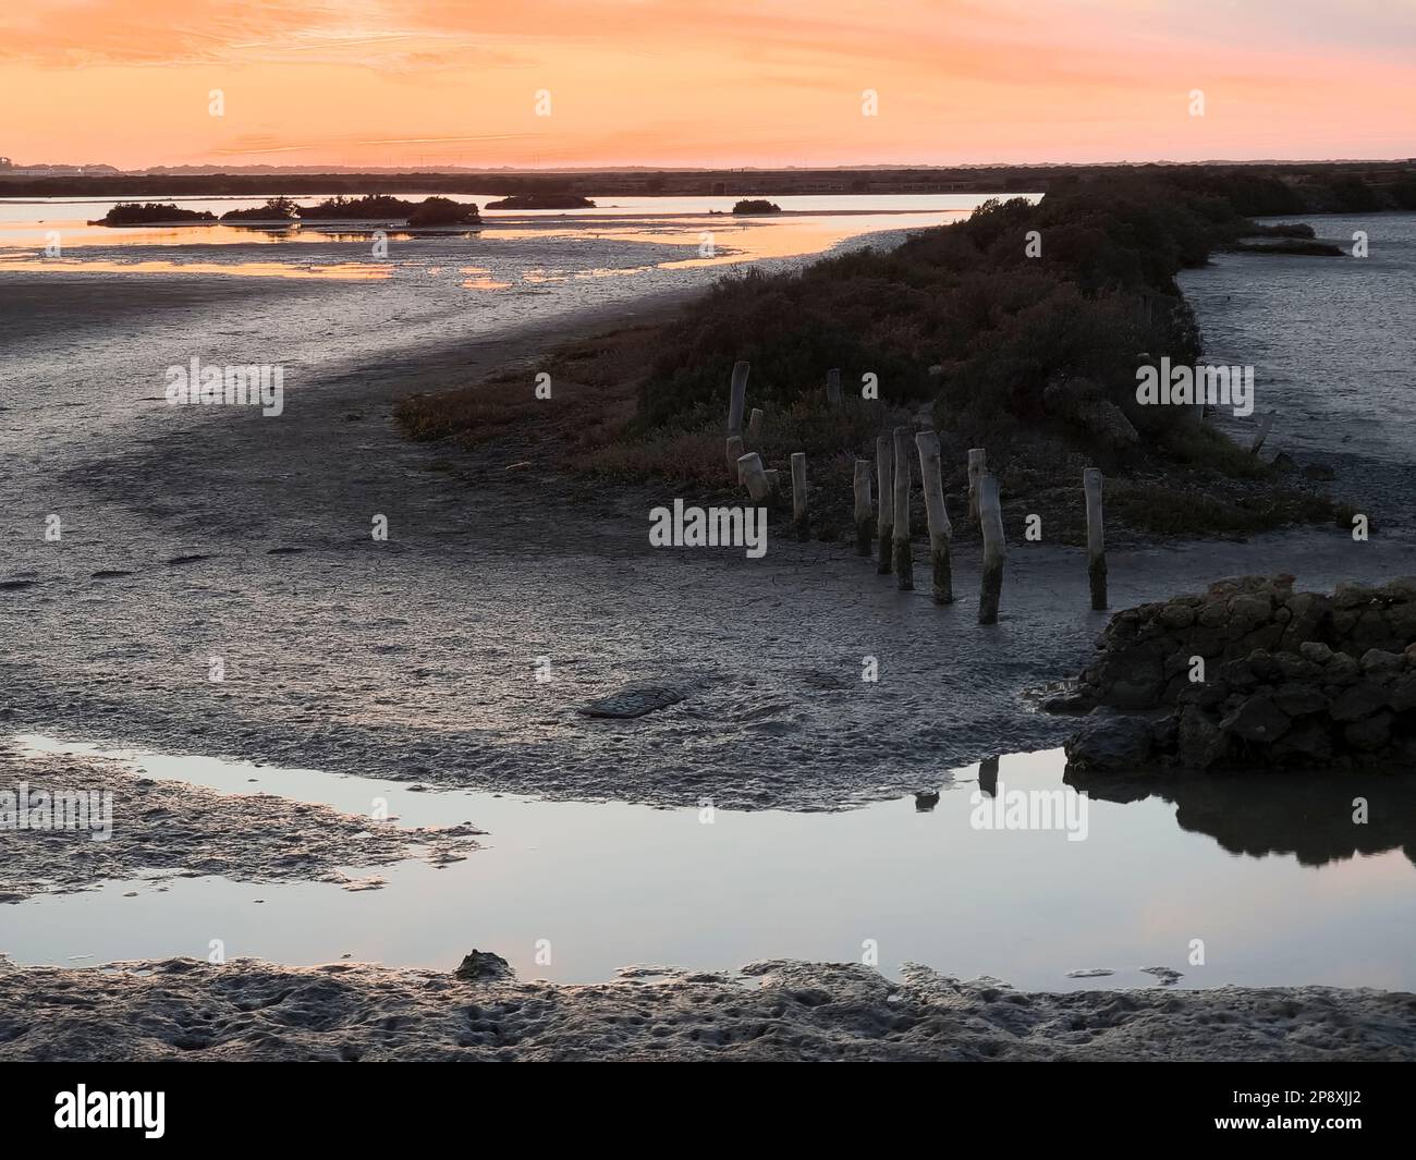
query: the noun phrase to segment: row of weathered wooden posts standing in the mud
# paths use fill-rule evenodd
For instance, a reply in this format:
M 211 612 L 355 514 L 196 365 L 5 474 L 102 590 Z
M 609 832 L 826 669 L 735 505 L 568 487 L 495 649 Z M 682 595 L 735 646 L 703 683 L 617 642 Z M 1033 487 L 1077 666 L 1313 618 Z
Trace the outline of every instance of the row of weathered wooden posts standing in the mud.
M 742 439 L 742 412 L 748 394 L 748 363 L 732 368 L 732 399 L 728 409 L 728 465 L 736 472 L 753 501 L 765 500 L 776 487 L 776 472 L 769 472 L 758 452 L 746 452 Z M 841 401 L 841 374 L 827 375 L 827 399 L 831 406 Z M 748 439 L 756 443 L 762 436 L 762 409 L 753 408 L 748 422 Z M 1260 436 L 1262 438 L 1262 436 Z M 910 429 L 895 428 L 892 435 L 875 439 L 875 487 L 879 496 L 875 514 L 875 535 L 879 540 L 879 575 L 895 574 L 901 591 L 915 588 L 915 559 L 909 538 L 909 443 Z M 919 479 L 925 494 L 925 514 L 929 524 L 929 561 L 935 603 L 947 605 L 954 599 L 953 571 L 949 548 L 953 527 L 944 508 L 943 463 L 939 435 L 933 431 L 915 433 L 915 453 L 919 456 Z M 1106 537 L 1102 525 L 1102 472 L 1087 467 L 1082 473 L 1086 496 L 1086 571 L 1092 592 L 1092 608 L 1102 610 L 1106 593 Z M 855 551 L 871 555 L 871 465 L 855 460 Z M 886 499 L 888 497 L 888 499 Z M 978 524 L 983 535 L 983 572 L 978 592 L 978 623 L 998 622 L 998 602 L 1003 595 L 1003 565 L 1007 542 L 1003 533 L 1003 506 L 998 500 L 998 480 L 988 473 L 983 448 L 969 449 L 969 520 Z M 806 499 L 806 453 L 792 453 L 792 521 L 800 540 L 809 538 Z

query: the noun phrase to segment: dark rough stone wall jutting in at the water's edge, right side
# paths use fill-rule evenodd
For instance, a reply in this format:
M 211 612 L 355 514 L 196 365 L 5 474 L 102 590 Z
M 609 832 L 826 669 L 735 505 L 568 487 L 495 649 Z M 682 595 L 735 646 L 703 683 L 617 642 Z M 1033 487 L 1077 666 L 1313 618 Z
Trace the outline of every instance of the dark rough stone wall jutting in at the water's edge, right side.
M 1416 576 L 1294 592 L 1242 576 L 1116 613 L 1054 710 L 1080 771 L 1416 761 Z

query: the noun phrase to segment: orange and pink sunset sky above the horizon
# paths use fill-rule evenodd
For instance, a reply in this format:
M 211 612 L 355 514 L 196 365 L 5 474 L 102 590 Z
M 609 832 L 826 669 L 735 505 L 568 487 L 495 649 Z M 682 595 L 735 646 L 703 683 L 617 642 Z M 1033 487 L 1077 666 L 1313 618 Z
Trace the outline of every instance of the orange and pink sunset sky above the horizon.
M 1409 157 L 1416 0 L 8 0 L 0 108 L 125 169 Z

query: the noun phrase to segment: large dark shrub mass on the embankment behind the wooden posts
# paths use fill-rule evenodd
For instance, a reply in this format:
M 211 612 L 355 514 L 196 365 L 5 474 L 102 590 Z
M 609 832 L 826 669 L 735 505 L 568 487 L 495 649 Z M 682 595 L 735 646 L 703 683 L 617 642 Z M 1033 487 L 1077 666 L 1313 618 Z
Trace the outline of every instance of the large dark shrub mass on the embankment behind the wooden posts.
M 721 402 L 745 358 L 753 399 L 775 409 L 818 392 L 838 367 L 848 384 L 874 374 L 886 404 L 933 401 L 942 428 L 1070 425 L 1083 448 L 1103 439 L 1116 450 L 1138 354 L 1199 353 L 1175 273 L 1255 229 L 1211 190 L 1076 181 L 1039 204 L 987 201 L 886 254 L 724 279 L 667 329 L 639 423 L 677 429 Z M 1055 391 L 1049 406 L 1048 385 L 1069 380 L 1087 384 L 1080 401 Z

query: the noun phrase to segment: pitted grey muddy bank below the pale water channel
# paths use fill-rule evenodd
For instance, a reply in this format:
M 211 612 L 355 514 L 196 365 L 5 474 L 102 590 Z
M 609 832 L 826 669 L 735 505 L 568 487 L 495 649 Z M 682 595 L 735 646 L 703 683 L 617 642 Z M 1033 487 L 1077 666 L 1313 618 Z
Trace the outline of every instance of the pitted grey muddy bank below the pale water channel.
M 796 962 L 742 974 L 552 986 L 365 963 L 0 965 L 0 1059 L 1416 1059 L 1416 996 L 1399 991 L 1046 994 Z

